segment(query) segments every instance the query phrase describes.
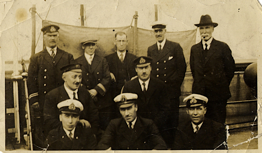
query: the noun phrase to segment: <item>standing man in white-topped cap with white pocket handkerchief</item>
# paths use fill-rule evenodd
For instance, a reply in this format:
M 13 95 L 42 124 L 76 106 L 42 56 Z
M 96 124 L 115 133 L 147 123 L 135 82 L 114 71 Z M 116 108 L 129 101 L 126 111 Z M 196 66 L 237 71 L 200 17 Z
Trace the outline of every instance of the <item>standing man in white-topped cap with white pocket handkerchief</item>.
M 164 81 L 169 91 L 171 113 L 168 117 L 170 123 L 168 126 L 172 135 L 171 133 L 178 126 L 180 87 L 187 65 L 181 46 L 166 39 L 166 24 L 156 21 L 152 24 L 152 28 L 157 42 L 148 48 L 148 56 L 153 58 L 151 75 Z

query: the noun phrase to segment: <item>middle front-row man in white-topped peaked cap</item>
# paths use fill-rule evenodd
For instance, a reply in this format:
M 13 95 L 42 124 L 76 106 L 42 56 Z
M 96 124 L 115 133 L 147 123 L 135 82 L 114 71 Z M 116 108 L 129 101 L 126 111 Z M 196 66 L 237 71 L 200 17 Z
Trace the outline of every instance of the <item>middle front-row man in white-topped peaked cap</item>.
M 98 144 L 99 150 L 165 150 L 154 122 L 137 115 L 138 95 L 122 93 L 114 98 L 122 115 L 111 120 Z

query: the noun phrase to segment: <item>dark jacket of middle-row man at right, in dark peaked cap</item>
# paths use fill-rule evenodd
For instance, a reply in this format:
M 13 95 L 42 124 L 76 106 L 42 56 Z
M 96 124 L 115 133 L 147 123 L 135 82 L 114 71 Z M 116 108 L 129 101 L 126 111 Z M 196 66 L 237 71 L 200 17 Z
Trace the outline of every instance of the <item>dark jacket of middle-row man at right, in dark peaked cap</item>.
M 138 115 L 153 120 L 159 130 L 162 131 L 166 126 L 166 118 L 170 111 L 170 99 L 163 81 L 150 78 L 146 98 L 138 78 L 125 83 L 123 93 L 126 92 L 138 95 Z

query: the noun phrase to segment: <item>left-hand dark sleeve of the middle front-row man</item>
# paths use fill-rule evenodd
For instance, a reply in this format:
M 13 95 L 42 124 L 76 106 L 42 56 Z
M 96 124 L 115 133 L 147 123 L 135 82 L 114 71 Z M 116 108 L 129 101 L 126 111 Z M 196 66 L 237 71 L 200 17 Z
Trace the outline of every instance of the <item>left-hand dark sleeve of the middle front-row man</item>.
M 112 123 L 112 121 L 110 121 L 110 123 L 108 124 L 106 128 L 104 135 L 102 136 L 101 140 L 99 141 L 97 145 L 97 150 L 106 150 L 110 147 L 114 148 L 113 143 L 116 141 L 114 139 L 115 133 L 116 131 L 114 128 L 114 124 Z

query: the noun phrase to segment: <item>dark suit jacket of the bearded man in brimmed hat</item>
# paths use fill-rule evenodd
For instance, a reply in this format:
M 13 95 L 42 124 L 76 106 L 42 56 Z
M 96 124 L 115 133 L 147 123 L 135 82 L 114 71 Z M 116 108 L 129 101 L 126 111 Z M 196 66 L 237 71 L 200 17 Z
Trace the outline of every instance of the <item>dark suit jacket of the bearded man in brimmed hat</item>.
M 213 38 L 206 58 L 203 58 L 203 50 L 202 41 L 191 48 L 192 93 L 204 95 L 211 101 L 230 98 L 229 85 L 235 70 L 230 48 Z

